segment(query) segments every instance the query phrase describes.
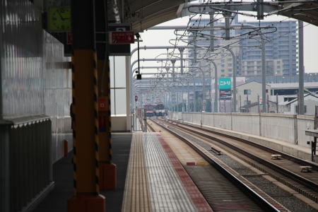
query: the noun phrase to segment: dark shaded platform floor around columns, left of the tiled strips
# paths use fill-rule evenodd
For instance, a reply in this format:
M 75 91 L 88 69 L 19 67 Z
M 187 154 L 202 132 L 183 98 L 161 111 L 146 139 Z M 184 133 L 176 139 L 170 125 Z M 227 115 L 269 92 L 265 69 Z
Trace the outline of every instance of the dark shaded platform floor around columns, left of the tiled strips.
M 128 165 L 131 134 L 112 134 L 113 161 L 117 165 L 117 189 L 102 191 L 106 199 L 106 211 L 117 212 L 122 210 L 122 199 L 124 196 L 124 182 Z M 73 195 L 73 165 L 71 163 L 72 153 L 57 161 L 53 165 L 53 180 L 55 187 L 33 210 L 34 212 L 66 212 L 67 199 Z

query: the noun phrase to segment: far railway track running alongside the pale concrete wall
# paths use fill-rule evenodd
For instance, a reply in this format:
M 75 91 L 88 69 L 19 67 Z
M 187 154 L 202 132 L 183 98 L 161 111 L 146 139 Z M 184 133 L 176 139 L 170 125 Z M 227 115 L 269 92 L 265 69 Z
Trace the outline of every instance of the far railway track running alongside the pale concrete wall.
M 270 175 L 279 182 L 285 184 L 291 189 L 294 189 L 296 192 L 318 203 L 318 167 L 316 164 L 300 158 L 295 158 L 280 151 L 273 151 L 271 148 L 266 148 L 265 146 L 261 146 L 257 143 L 251 143 L 244 139 L 236 139 L 228 135 L 215 134 L 214 132 L 211 132 L 211 130 L 201 129 L 199 126 L 182 124 L 179 122 L 173 123 L 177 124 L 176 127 L 179 129 L 186 130 L 189 133 L 199 135 L 208 140 L 217 141 L 218 143 L 223 144 L 223 146 L 227 146 L 233 151 L 245 155 L 246 158 L 237 155 L 236 153 L 240 159 L 249 163 L 249 165 L 257 167 L 257 169 L 262 172 L 266 172 L 267 175 Z M 172 123 L 170 122 L 170 124 Z M 244 143 L 244 145 L 237 144 L 237 141 Z M 261 150 L 257 151 L 256 148 L 261 148 Z M 267 157 L 261 157 L 266 153 Z M 281 155 L 283 160 L 271 160 L 272 154 Z M 302 165 L 311 166 L 314 171 L 302 173 L 300 171 L 300 166 Z

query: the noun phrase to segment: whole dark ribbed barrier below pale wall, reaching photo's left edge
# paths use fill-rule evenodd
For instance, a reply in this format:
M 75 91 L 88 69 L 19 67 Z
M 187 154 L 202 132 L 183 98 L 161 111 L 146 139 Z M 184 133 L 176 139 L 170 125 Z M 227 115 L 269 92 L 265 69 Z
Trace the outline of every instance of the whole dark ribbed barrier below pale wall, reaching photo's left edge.
M 52 126 L 45 116 L 11 121 L 0 128 L 0 209 L 28 211 L 53 188 Z

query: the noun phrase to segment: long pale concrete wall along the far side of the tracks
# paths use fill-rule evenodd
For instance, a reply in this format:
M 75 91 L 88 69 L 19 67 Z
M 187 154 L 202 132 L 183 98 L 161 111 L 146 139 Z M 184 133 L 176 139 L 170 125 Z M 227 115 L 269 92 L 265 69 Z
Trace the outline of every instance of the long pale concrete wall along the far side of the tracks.
M 268 139 L 285 141 L 310 147 L 305 136 L 306 129 L 314 128 L 314 116 L 272 113 L 213 113 L 213 112 L 169 112 L 168 117 L 194 124 L 214 126 L 220 129 L 264 136 Z

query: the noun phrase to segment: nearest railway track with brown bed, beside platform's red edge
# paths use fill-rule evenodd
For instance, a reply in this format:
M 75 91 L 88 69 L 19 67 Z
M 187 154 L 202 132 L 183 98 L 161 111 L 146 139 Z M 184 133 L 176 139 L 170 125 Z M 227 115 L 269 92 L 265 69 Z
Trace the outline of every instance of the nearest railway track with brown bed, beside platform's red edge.
M 203 176 L 208 176 L 208 179 L 199 182 L 198 187 L 200 189 L 201 183 L 201 192 L 211 208 L 213 208 L 213 211 L 288 211 L 287 208 L 248 182 L 245 177 L 242 177 L 228 165 L 218 160 L 209 151 L 206 151 L 206 149 L 191 141 L 191 139 L 185 138 L 180 131 L 171 129 L 172 127 L 168 126 L 167 123 L 155 122 L 155 124 L 188 143 L 212 165 L 212 167 L 197 166 L 195 168 L 189 166 L 187 171 L 199 172 L 199 178 L 201 179 Z M 150 124 L 148 124 L 148 127 L 154 131 Z M 213 172 L 212 175 L 211 172 Z M 208 175 L 208 173 L 210 174 Z M 195 177 L 192 176 L 192 178 Z M 196 182 L 196 180 L 194 181 Z

